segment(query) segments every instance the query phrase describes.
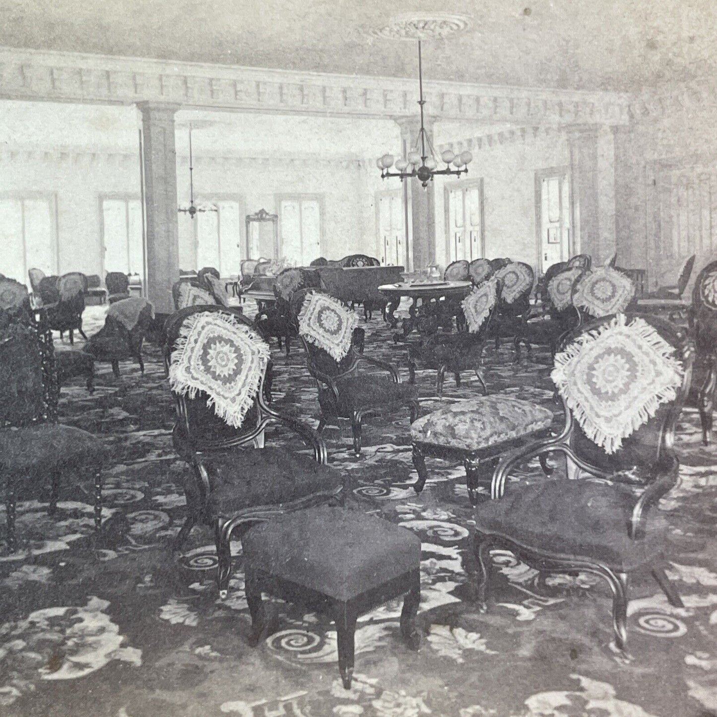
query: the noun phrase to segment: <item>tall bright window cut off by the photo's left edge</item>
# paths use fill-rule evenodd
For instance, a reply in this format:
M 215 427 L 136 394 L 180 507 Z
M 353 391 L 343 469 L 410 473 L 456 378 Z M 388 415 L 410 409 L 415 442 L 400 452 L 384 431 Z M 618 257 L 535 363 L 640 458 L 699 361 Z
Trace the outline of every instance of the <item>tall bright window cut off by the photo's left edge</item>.
M 57 272 L 55 197 L 0 196 L 0 273 L 28 282 L 29 269 Z

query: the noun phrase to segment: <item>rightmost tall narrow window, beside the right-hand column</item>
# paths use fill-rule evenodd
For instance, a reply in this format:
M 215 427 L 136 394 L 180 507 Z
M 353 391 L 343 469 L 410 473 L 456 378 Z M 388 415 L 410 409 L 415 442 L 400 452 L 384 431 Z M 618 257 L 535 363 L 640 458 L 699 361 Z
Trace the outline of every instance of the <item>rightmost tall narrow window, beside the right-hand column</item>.
M 536 172 L 541 273 L 570 258 L 570 176 L 566 168 Z

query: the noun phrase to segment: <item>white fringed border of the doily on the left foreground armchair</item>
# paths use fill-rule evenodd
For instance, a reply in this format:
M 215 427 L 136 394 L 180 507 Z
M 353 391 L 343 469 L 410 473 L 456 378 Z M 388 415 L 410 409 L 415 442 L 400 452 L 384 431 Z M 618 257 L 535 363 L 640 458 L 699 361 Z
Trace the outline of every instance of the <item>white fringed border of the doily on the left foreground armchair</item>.
M 218 321 L 226 324 L 228 328 L 232 328 L 234 331 L 242 333 L 244 337 L 249 339 L 257 349 L 260 363 L 259 370 L 250 372 L 247 376 L 247 383 L 244 384 L 243 387 L 244 397 L 242 397 L 239 405 L 229 404 L 227 399 L 214 394 L 214 392 L 208 390 L 206 386 L 199 386 L 192 382 L 191 379 L 179 376 L 181 366 L 189 361 L 189 356 L 186 356 L 185 358 L 185 354 L 192 348 L 190 341 L 194 338 L 193 334 L 195 331 L 199 333 L 199 331 L 204 328 L 204 326 L 201 326 L 201 323 L 203 323 L 206 318 L 212 319 L 212 321 L 207 321 L 207 324 Z M 244 421 L 244 416 L 254 404 L 254 398 L 257 391 L 259 391 L 262 377 L 266 373 L 269 358 L 269 346 L 267 346 L 265 341 L 248 326 L 243 326 L 237 322 L 232 315 L 222 313 L 196 313 L 189 316 L 184 320 L 184 322 L 182 322 L 179 330 L 179 336 L 174 342 L 174 351 L 172 351 L 172 360 L 171 365 L 169 366 L 169 387 L 175 393 L 180 396 L 186 396 L 189 399 L 196 398 L 196 394 L 199 391 L 203 391 L 208 397 L 206 399 L 206 406 L 208 408 L 214 408 L 214 414 L 226 421 L 230 426 L 240 428 L 242 426 L 242 422 Z M 193 368 L 194 367 L 190 365 L 190 369 Z M 237 391 L 234 396 L 238 396 L 239 393 L 240 391 Z

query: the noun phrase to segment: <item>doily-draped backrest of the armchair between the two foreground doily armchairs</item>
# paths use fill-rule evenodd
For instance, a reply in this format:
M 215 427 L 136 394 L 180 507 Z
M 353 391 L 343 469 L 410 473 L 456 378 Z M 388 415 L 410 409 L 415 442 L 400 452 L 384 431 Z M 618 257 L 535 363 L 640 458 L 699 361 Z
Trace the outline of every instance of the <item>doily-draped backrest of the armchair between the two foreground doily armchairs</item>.
M 346 303 L 320 289 L 302 289 L 290 302 L 292 321 L 304 345 L 309 369 L 328 376 L 353 371 L 356 314 Z

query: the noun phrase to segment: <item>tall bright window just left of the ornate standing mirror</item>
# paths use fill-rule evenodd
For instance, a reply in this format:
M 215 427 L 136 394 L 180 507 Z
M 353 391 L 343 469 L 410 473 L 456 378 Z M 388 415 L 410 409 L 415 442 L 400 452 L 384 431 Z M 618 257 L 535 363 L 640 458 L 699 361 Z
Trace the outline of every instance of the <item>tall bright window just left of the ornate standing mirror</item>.
M 204 197 L 199 204 L 212 204 L 218 211 L 199 212 L 194 217 L 196 269 L 214 267 L 227 277 L 238 274 L 239 262 L 242 260 L 241 203 L 238 199 Z

